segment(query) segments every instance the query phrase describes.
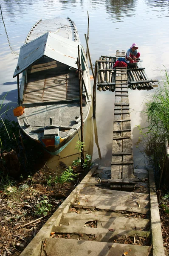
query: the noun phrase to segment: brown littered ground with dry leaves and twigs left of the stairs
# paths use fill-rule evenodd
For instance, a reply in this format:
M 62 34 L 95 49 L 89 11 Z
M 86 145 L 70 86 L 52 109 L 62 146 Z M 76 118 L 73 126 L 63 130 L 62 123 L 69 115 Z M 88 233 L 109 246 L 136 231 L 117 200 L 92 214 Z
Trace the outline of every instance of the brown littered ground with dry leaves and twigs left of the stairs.
M 50 183 L 45 172 L 0 190 L 0 256 L 20 255 L 76 186 L 77 180 Z

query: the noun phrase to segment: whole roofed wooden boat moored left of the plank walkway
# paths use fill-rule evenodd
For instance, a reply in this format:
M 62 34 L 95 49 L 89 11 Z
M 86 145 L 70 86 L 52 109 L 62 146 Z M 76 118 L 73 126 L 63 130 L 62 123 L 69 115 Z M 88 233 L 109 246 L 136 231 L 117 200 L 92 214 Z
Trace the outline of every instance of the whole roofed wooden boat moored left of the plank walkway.
M 91 102 L 90 74 L 72 20 L 39 20 L 20 48 L 14 72 L 18 81 L 19 125 L 51 154 L 62 151 L 80 128 L 78 45 L 85 122 Z M 20 73 L 23 73 L 21 84 Z

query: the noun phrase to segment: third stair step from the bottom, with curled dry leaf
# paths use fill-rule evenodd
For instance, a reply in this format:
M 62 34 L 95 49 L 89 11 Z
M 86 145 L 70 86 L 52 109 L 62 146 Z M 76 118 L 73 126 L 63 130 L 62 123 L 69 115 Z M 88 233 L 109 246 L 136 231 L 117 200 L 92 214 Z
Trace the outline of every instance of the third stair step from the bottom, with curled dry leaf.
M 93 224 L 90 225 L 90 223 Z M 94 226 L 99 228 L 112 228 L 112 229 L 122 229 L 122 230 L 142 230 L 148 227 L 149 220 L 141 218 L 125 218 L 125 217 L 109 217 L 109 216 L 97 216 L 97 215 L 82 215 L 82 214 L 72 214 L 64 213 L 60 224 L 64 226 Z M 93 229 L 93 228 L 92 228 Z M 92 232 L 92 230 L 91 230 Z

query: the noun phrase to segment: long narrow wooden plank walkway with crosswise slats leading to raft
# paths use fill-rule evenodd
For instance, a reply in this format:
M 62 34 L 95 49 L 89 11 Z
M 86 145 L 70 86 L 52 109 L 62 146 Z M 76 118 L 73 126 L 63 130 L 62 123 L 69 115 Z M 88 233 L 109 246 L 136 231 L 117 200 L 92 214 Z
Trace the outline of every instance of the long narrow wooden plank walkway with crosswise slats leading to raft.
M 125 52 L 116 52 L 116 58 L 125 56 Z M 116 67 L 115 103 L 113 119 L 113 149 L 111 178 L 131 178 L 133 176 L 133 154 L 130 125 L 130 107 L 127 86 L 127 68 Z

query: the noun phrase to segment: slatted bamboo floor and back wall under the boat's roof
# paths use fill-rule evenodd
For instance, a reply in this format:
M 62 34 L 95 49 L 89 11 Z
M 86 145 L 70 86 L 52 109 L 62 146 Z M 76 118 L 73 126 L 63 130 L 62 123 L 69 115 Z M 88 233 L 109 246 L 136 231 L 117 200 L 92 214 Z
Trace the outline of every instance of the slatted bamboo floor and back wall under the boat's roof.
M 75 71 L 51 58 L 40 58 L 28 69 L 23 103 L 71 100 L 79 96 Z

